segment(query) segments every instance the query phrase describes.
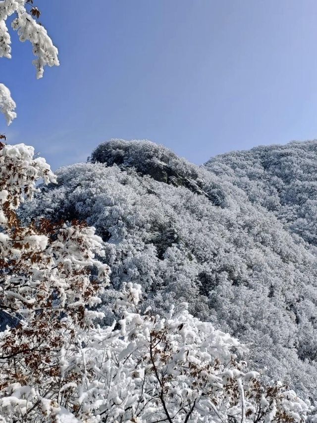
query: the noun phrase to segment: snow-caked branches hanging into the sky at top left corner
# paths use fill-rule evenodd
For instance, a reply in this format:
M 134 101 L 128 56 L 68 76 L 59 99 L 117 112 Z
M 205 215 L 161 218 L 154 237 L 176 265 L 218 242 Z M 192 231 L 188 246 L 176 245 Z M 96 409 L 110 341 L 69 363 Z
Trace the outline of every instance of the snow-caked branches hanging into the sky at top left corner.
M 2 0 L 0 1 L 0 58 L 11 58 L 11 38 L 6 25 L 9 16 L 15 15 L 12 28 L 18 32 L 20 41 L 30 41 L 37 78 L 42 78 L 46 65 L 58 65 L 58 51 L 44 26 L 36 21 L 40 16 L 38 7 L 33 0 Z M 0 111 L 4 114 L 9 125 L 16 118 L 15 102 L 9 89 L 0 83 Z

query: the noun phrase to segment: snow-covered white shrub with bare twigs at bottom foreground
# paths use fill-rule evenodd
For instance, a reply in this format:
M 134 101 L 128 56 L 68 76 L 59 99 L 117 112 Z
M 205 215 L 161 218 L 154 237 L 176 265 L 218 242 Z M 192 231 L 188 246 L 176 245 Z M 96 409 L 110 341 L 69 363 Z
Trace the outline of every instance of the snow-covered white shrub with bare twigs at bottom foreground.
M 96 330 L 76 358 L 85 363 L 84 386 L 62 389 L 77 396 L 80 421 L 299 423 L 309 416 L 309 402 L 280 382 L 262 384 L 234 355 L 243 352 L 239 342 L 193 317 L 187 303 L 163 316 L 142 314 L 140 297 L 140 285 L 124 284 L 119 325 Z

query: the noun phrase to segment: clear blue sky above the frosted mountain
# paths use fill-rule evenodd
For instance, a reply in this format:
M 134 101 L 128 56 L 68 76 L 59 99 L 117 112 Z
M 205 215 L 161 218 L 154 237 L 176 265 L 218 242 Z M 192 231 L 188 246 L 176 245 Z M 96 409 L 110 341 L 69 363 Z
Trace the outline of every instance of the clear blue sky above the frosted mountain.
M 53 169 L 109 138 L 219 153 L 317 137 L 316 0 L 36 0 L 60 66 L 36 80 L 12 34 L 0 80 L 17 103 L 8 142 Z

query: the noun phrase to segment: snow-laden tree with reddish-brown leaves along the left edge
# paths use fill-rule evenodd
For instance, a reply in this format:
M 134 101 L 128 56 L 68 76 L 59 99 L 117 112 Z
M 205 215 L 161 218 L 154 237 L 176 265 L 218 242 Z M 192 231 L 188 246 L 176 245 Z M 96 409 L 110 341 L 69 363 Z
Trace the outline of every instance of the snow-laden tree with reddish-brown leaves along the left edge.
M 0 311 L 12 322 L 0 333 L 0 410 L 9 407 L 12 421 L 32 421 L 39 408 L 45 421 L 61 384 L 77 380 L 76 372 L 64 377 L 63 355 L 76 353 L 80 333 L 101 317 L 90 308 L 108 284 L 94 228 L 46 219 L 20 224 L 16 210 L 40 178 L 55 181 L 32 147 L 0 144 Z

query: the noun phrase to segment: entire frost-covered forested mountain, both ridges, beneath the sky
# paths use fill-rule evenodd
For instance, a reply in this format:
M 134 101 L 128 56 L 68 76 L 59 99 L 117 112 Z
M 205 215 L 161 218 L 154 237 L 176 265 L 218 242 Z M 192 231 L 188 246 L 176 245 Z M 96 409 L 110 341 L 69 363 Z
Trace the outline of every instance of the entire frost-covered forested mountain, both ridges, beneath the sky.
M 187 301 L 248 345 L 252 367 L 316 397 L 316 171 L 315 141 L 198 167 L 150 141 L 111 140 L 61 168 L 24 217 L 97 228 L 112 271 L 105 310 L 125 281 L 158 312 Z

